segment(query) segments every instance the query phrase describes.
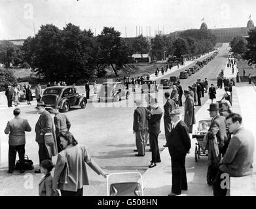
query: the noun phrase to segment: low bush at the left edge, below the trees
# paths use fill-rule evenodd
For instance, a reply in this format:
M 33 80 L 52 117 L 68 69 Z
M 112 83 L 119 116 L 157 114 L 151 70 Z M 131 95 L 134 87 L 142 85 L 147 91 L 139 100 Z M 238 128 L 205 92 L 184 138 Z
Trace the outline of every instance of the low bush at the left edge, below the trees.
M 5 91 L 8 85 L 17 84 L 14 72 L 9 69 L 0 68 L 0 91 Z

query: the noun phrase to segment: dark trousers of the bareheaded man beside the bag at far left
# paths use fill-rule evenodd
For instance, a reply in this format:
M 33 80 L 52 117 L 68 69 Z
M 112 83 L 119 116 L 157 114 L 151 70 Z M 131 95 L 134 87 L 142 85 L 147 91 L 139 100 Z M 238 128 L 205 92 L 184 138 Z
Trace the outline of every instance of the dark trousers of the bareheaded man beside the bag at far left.
M 20 158 L 20 170 L 24 170 L 24 155 L 25 155 L 25 144 L 12 146 L 9 145 L 9 170 L 15 169 L 16 152 L 18 152 Z

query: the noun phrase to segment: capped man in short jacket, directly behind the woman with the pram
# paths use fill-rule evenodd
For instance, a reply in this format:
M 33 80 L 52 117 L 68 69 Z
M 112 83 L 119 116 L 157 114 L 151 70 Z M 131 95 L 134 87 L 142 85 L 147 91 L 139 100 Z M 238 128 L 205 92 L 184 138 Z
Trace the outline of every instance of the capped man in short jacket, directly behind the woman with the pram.
M 71 123 L 64 113 L 59 112 L 60 106 L 52 105 L 50 112 L 54 114 L 55 134 L 58 146 L 58 152 L 62 152 L 63 147 L 60 144 L 60 133 L 69 131 Z

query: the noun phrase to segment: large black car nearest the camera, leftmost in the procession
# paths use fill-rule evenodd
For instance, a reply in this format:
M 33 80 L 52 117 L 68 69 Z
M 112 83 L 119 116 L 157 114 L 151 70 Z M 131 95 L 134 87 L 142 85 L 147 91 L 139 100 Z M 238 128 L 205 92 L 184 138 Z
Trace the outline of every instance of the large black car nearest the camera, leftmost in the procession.
M 60 106 L 60 112 L 67 112 L 69 108 L 85 108 L 87 104 L 86 97 L 79 95 L 77 89 L 72 86 L 52 86 L 45 89 L 42 101 L 46 105 L 46 110 L 50 106 Z

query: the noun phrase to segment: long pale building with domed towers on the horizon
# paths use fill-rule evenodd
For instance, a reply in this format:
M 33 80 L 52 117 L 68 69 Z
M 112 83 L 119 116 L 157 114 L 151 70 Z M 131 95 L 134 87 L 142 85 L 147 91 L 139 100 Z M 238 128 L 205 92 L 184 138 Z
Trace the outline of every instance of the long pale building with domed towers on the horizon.
M 217 42 L 230 42 L 236 36 L 247 37 L 248 31 L 254 28 L 255 26 L 253 21 L 249 20 L 247 22 L 246 27 L 214 28 L 210 30 L 217 37 L 216 39 Z M 200 29 L 208 29 L 205 22 L 201 24 Z M 173 39 L 177 39 L 177 37 L 179 37 L 179 33 L 181 32 L 182 31 L 175 31 L 174 33 L 170 33 L 170 36 Z

